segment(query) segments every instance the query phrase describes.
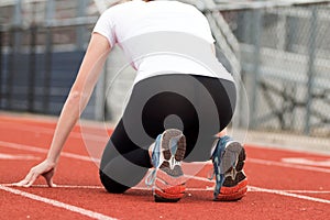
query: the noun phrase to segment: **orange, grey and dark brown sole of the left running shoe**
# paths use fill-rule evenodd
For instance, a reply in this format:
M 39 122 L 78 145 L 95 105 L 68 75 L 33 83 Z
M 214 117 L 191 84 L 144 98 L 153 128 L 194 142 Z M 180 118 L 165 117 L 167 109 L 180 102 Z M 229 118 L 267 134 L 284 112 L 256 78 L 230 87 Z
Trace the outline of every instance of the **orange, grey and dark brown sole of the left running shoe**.
M 170 140 L 179 138 L 175 155 L 172 155 Z M 164 162 L 160 166 L 155 180 L 154 198 L 156 202 L 176 202 L 185 195 L 185 178 L 179 165 L 170 168 L 169 161 L 182 162 L 186 153 L 186 138 L 179 130 L 166 130 L 162 138 L 162 153 Z M 174 157 L 173 157 L 174 156 Z

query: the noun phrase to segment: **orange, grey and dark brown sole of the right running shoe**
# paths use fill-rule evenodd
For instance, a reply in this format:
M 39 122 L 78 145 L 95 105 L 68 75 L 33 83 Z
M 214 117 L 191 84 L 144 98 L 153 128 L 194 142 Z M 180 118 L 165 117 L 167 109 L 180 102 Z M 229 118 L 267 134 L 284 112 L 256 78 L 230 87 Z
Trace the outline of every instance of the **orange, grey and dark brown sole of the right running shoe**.
M 226 170 L 224 182 L 217 201 L 237 201 L 248 191 L 248 179 L 243 172 L 246 153 L 239 142 L 230 143 L 224 151 L 221 168 Z M 232 164 L 234 163 L 234 166 Z

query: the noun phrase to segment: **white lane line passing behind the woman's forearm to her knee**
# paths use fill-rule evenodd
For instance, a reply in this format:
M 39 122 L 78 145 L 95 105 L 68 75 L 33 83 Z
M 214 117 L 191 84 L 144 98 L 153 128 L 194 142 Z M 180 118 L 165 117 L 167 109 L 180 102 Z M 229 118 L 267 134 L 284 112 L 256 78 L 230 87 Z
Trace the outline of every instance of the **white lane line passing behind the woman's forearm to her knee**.
M 26 144 L 10 143 L 10 142 L 4 142 L 4 141 L 0 141 L 0 145 L 2 147 L 23 150 L 23 151 L 30 151 L 30 152 L 36 152 L 36 153 L 43 153 L 43 154 L 46 154 L 48 152 L 48 150 L 46 150 L 46 148 L 41 148 L 41 147 L 31 146 L 31 145 L 26 145 Z M 82 156 L 79 154 L 73 154 L 73 153 L 67 153 L 67 152 L 62 152 L 61 156 L 76 158 L 76 160 L 80 160 L 80 161 L 87 161 L 87 162 L 97 162 L 97 163 L 100 162 L 99 158 L 95 158 L 95 157 L 90 157 L 90 156 Z

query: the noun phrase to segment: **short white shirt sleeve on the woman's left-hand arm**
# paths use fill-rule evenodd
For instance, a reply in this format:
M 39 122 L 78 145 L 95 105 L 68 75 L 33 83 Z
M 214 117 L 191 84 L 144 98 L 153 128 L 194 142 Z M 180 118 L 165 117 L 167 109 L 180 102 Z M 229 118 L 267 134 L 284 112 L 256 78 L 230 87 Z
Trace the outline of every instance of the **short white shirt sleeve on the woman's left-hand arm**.
M 114 25 L 111 19 L 111 11 L 105 11 L 101 16 L 98 19 L 94 33 L 99 33 L 108 38 L 110 46 L 113 46 L 117 43 L 114 34 Z

